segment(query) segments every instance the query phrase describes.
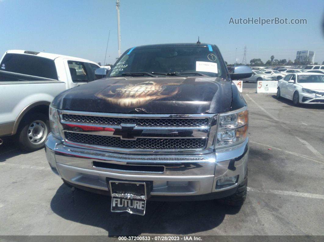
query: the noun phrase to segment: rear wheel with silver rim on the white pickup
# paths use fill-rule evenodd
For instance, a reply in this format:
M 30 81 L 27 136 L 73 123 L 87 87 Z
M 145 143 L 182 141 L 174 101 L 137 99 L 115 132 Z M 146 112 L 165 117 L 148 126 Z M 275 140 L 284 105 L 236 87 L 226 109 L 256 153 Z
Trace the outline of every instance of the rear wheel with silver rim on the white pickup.
M 43 148 L 50 130 L 48 116 L 42 113 L 33 113 L 22 122 L 18 134 L 21 149 L 35 151 Z

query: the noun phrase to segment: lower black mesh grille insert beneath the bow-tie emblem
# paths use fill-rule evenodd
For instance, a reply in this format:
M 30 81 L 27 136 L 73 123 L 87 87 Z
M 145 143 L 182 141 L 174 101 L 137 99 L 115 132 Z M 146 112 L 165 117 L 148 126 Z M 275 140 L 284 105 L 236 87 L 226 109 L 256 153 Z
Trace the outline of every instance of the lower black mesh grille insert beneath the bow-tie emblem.
M 118 147 L 125 149 L 201 149 L 205 147 L 204 138 L 181 139 L 151 139 L 138 138 L 136 140 L 121 140 L 119 137 L 102 136 L 84 133 L 64 132 L 68 141 L 99 146 Z

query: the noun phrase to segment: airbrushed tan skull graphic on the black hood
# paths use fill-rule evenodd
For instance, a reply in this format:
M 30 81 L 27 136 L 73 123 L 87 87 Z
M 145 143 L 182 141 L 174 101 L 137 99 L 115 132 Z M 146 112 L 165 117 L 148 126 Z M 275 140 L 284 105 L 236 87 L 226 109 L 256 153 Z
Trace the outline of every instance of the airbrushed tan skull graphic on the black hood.
M 152 100 L 171 97 L 179 92 L 179 83 L 145 81 L 126 85 L 111 84 L 96 93 L 100 99 L 123 108 L 143 106 Z

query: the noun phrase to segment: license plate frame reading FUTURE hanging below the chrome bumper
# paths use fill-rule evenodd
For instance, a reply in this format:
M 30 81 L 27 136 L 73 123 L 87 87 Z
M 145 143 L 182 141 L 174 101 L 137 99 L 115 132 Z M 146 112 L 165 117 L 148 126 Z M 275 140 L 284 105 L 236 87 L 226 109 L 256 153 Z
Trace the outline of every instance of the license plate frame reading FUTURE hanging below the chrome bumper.
M 111 195 L 111 212 L 128 212 L 145 215 L 147 184 L 136 181 L 108 181 Z

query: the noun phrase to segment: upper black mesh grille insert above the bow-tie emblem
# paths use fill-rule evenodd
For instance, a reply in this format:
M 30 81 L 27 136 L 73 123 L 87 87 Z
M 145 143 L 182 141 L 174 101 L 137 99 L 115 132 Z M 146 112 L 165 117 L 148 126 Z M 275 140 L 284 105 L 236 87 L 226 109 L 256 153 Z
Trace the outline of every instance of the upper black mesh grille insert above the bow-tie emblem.
M 63 114 L 63 121 L 93 123 L 93 124 L 112 124 L 120 125 L 121 123 L 133 123 L 137 126 L 185 126 L 185 127 L 202 127 L 208 126 L 209 119 L 206 118 L 115 118 L 115 117 L 101 117 L 88 116 L 76 114 Z

